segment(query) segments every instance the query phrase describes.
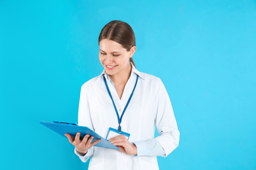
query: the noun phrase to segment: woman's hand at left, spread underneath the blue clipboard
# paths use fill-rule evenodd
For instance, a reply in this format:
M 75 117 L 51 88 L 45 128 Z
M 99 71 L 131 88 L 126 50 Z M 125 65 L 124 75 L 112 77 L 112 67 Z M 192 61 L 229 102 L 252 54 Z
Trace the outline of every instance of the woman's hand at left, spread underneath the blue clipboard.
M 83 140 L 81 141 L 79 132 L 76 133 L 75 137 L 72 137 L 68 133 L 66 133 L 65 136 L 68 137 L 68 141 L 70 141 L 70 143 L 75 146 L 75 150 L 79 152 L 79 154 L 81 154 L 82 156 L 85 156 L 85 154 L 87 154 L 88 152 L 88 149 L 92 146 L 95 146 L 95 144 L 100 141 L 100 139 L 98 139 L 92 143 L 91 141 L 93 141 L 94 137 L 90 137 L 90 135 L 85 135 L 85 137 L 83 137 Z

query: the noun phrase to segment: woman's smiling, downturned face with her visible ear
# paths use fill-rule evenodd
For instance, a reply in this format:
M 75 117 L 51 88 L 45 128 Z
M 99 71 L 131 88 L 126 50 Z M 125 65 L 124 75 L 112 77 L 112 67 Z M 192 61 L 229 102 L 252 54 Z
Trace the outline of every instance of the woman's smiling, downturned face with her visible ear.
M 130 71 L 129 59 L 133 56 L 135 50 L 136 47 L 133 46 L 127 52 L 121 44 L 109 39 L 102 39 L 99 52 L 100 63 L 108 75 L 121 75 L 126 71 Z

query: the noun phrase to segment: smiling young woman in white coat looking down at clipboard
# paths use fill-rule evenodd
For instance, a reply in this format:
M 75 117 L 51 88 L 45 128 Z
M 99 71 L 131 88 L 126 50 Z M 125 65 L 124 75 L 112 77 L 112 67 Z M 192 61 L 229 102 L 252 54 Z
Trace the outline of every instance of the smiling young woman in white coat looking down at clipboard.
M 101 75 L 81 87 L 78 124 L 106 137 L 109 128 L 129 133 L 110 139 L 119 150 L 95 147 L 93 137 L 79 140 L 66 134 L 89 169 L 159 169 L 156 156 L 167 156 L 179 145 L 171 101 L 156 76 L 135 68 L 135 34 L 125 22 L 106 24 L 98 37 Z M 155 127 L 159 137 L 154 138 Z

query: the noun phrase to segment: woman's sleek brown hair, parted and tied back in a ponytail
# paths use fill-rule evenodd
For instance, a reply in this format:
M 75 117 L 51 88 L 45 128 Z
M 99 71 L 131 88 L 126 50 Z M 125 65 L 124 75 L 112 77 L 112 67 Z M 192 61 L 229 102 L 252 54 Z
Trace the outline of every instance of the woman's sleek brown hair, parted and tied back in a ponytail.
M 126 22 L 117 20 L 109 22 L 101 29 L 98 36 L 98 44 L 102 39 L 109 39 L 121 44 L 127 52 L 131 50 L 131 47 L 136 46 L 135 34 L 131 26 Z M 135 66 L 133 58 L 130 58 L 130 61 Z

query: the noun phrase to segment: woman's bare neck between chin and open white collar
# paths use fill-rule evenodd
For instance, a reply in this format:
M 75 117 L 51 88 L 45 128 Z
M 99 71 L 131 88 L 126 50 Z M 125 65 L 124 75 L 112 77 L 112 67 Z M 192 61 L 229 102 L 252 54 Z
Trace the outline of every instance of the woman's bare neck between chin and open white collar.
M 126 84 L 131 75 L 131 65 L 127 65 L 123 71 L 116 75 L 109 75 L 114 84 Z

